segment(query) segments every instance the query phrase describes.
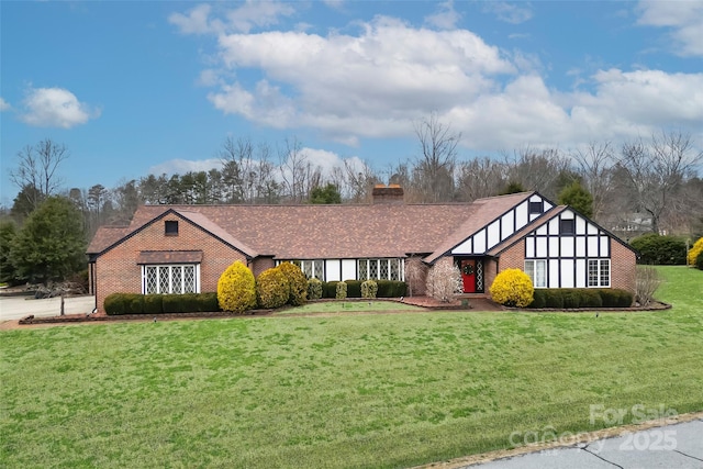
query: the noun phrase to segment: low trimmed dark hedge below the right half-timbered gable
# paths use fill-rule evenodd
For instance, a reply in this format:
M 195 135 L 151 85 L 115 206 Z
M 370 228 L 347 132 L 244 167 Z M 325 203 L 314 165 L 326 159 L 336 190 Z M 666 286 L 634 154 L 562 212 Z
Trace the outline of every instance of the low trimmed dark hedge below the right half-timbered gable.
M 559 288 L 535 289 L 527 308 L 629 308 L 633 294 L 620 289 Z

